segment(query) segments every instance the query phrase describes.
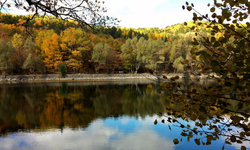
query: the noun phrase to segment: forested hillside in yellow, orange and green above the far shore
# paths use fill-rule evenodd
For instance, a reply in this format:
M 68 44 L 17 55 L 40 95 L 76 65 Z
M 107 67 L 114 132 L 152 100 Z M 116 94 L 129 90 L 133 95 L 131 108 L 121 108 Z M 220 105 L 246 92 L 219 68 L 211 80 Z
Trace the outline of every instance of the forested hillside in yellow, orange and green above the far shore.
M 56 73 L 59 64 L 67 73 L 182 72 L 182 62 L 191 60 L 193 22 L 164 29 L 93 30 L 73 20 L 35 17 L 27 22 L 28 17 L 0 15 L 1 74 Z M 199 30 L 203 38 L 211 34 L 202 26 Z

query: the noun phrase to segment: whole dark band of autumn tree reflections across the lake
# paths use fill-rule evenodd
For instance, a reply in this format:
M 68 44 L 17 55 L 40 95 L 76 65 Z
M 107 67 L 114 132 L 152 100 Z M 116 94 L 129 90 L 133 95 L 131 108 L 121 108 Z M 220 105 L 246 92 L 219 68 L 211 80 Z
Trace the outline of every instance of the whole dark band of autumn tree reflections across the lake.
M 86 128 L 96 118 L 145 117 L 163 111 L 156 90 L 147 84 L 90 86 L 15 85 L 0 87 L 0 132 L 43 131 L 65 126 Z

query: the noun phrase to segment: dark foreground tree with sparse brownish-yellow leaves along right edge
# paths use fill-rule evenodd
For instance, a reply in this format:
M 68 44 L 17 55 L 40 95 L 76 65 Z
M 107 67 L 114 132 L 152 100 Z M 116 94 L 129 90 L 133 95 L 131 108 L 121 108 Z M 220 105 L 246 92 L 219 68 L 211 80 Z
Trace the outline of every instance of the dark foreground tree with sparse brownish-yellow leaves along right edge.
M 199 72 L 193 74 L 206 74 L 216 85 L 199 87 L 191 80 L 186 85 L 188 88 L 183 88 L 175 82 L 179 79 L 178 76 L 170 78 L 169 83 L 161 84 L 170 95 L 166 98 L 169 101 L 166 108 L 168 113 L 187 120 L 187 125 L 174 117 L 169 117 L 168 121 L 183 128 L 181 135 L 187 137 L 188 141 L 194 135 L 200 135 L 201 138 L 194 139 L 197 145 L 210 145 L 219 136 L 224 136 L 225 144 L 242 144 L 250 141 L 250 23 L 246 22 L 244 25 L 240 22 L 248 18 L 250 12 L 245 10 L 250 10 L 250 6 L 248 1 L 234 0 L 214 1 L 214 5 L 208 6 L 211 6 L 211 17 L 201 15 L 188 2 L 182 7 L 194 11 L 193 20 L 197 23 L 197 26 L 191 27 L 196 32 L 191 55 Z M 216 12 L 216 9 L 221 12 Z M 206 22 L 201 22 L 202 20 Z M 211 37 L 200 34 L 200 26 L 211 29 Z M 218 33 L 222 36 L 216 37 Z M 201 45 L 205 48 L 200 49 Z M 188 60 L 183 62 L 184 65 L 188 63 Z M 196 80 L 200 81 L 200 78 Z M 190 126 L 190 121 L 194 121 L 195 125 Z M 231 132 L 232 129 L 236 132 Z M 173 140 L 175 144 L 179 141 Z M 222 145 L 222 149 L 224 148 Z M 241 149 L 246 147 L 242 145 Z

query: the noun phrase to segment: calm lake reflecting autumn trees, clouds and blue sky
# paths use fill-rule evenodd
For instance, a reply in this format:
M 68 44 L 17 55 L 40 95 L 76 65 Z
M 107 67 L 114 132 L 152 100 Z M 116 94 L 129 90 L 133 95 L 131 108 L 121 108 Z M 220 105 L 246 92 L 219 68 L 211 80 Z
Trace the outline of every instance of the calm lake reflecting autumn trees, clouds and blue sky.
M 240 149 L 239 144 L 225 144 L 225 137 L 197 145 L 182 137 L 183 129 L 176 124 L 162 123 L 168 117 L 167 101 L 154 82 L 152 91 L 146 92 L 150 83 L 1 84 L 0 150 L 216 150 L 223 145 L 226 150 Z M 182 141 L 175 145 L 175 138 Z

